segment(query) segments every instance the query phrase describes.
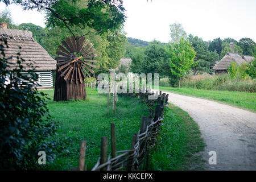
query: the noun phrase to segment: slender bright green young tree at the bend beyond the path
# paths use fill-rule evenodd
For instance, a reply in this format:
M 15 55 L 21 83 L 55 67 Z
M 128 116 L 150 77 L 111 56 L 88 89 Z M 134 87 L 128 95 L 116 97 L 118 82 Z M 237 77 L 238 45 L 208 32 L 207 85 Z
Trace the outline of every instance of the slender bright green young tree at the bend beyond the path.
M 192 48 L 188 40 L 181 38 L 179 44 L 169 44 L 167 52 L 171 72 L 173 75 L 179 77 L 180 88 L 181 77 L 185 76 L 197 64 L 194 63 L 196 51 Z

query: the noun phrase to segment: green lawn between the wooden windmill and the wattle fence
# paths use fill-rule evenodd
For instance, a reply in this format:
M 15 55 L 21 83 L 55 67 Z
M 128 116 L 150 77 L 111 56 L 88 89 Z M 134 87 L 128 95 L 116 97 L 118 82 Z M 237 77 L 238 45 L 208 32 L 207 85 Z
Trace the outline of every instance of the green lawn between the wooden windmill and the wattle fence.
M 112 109 L 108 114 L 106 96 L 99 96 L 94 90 L 86 91 L 88 100 L 68 102 L 53 102 L 53 90 L 44 91 L 51 98 L 48 101 L 50 114 L 53 119 L 61 122 L 56 140 L 66 140 L 69 150 L 57 155 L 49 169 L 69 170 L 71 167 L 78 167 L 81 140 L 87 141 L 85 163 L 88 169 L 92 169 L 100 156 L 101 137 L 109 138 L 110 149 L 111 122 L 115 123 L 117 150 L 128 150 L 133 134 L 141 126 L 141 117 L 149 113 L 149 108 L 141 100 L 118 97 L 117 114 Z M 72 138 L 72 141 L 65 138 Z

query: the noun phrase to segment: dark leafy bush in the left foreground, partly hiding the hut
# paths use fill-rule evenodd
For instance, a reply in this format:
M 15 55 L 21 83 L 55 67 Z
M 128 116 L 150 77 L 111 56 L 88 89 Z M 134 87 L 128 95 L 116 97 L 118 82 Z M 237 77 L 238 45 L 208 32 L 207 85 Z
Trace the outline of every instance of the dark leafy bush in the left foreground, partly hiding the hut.
M 22 63 L 17 54 L 18 68 L 13 70 L 15 76 L 6 82 L 11 75 L 1 45 L 0 60 L 0 169 L 38 169 L 38 152 L 45 151 L 47 163 L 55 159 L 53 151 L 58 145 L 49 140 L 55 134 L 57 123 L 51 121 L 44 93 L 32 89 L 36 84 L 36 74 L 23 76 Z M 20 80 L 23 79 L 23 80 Z

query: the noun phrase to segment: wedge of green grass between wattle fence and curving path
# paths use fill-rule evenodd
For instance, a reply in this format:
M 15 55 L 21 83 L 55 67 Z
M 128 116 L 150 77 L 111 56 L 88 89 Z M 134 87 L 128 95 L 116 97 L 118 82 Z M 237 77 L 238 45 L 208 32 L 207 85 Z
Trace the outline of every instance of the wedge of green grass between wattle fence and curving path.
M 164 119 L 155 148 L 150 154 L 151 170 L 203 170 L 204 141 L 198 125 L 188 115 L 174 105 Z

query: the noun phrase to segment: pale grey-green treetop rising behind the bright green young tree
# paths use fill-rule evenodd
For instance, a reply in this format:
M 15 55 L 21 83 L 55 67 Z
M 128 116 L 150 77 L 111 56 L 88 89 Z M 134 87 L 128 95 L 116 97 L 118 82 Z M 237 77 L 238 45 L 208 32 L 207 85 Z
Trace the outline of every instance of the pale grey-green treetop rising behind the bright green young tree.
M 171 30 L 171 43 L 179 43 L 181 38 L 186 38 L 187 33 L 185 32 L 182 24 L 175 22 L 173 24 L 170 24 L 170 30 Z

